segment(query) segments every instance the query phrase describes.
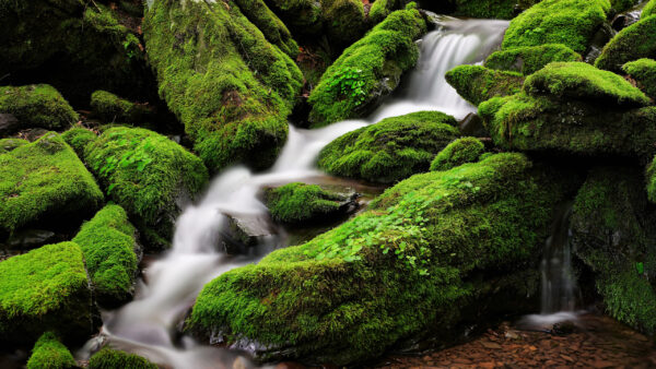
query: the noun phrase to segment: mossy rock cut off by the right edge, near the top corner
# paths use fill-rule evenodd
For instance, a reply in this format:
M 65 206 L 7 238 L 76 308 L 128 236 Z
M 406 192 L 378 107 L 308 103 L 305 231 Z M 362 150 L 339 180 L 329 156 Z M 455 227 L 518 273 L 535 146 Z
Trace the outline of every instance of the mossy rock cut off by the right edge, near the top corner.
M 629 61 L 656 59 L 656 16 L 647 16 L 620 31 L 601 50 L 595 67 L 621 73 Z

